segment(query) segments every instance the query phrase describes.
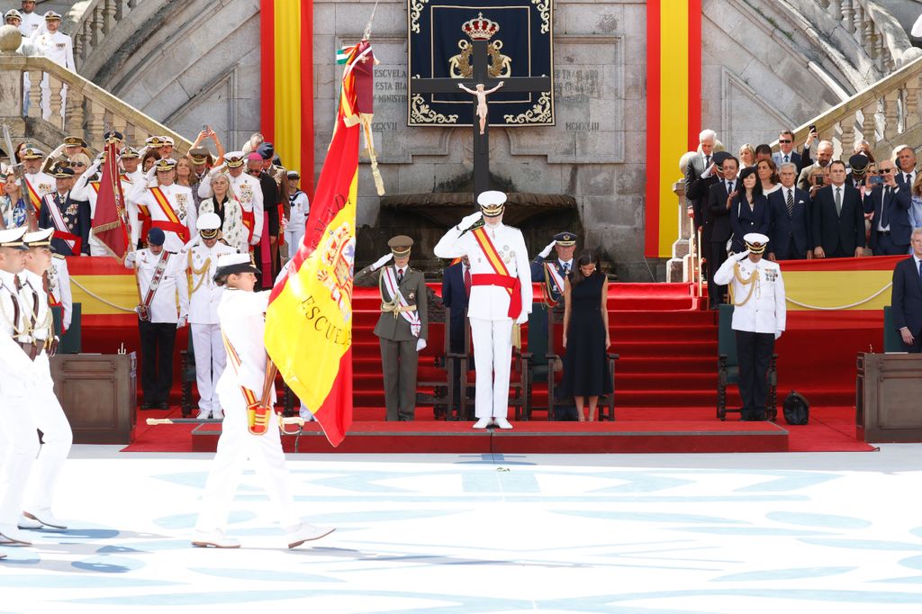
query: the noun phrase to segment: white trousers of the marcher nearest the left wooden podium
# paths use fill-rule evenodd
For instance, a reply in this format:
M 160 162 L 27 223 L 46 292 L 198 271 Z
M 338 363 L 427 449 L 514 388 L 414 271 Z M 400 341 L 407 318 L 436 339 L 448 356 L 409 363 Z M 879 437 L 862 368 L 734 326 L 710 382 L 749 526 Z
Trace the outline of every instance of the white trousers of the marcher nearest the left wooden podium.
M 67 421 L 57 396 L 54 396 L 54 383 L 48 356 L 44 353 L 38 356 L 35 359 L 35 367 L 40 374 L 38 384 L 30 397 L 29 410 L 35 426 L 41 431 L 43 443 L 35 466 L 32 467 L 29 490 L 23 508 L 26 512 L 52 507 L 58 477 L 70 453 L 70 446 L 74 443 L 74 433 L 70 429 L 70 422 Z

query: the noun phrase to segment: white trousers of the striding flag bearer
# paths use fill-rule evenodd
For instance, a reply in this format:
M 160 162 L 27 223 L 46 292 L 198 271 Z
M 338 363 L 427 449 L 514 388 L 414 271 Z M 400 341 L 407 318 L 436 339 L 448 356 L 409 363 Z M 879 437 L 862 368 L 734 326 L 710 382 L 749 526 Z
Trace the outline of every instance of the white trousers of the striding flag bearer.
M 269 422 L 265 435 L 251 435 L 247 430 L 246 404 L 240 388 L 229 390 L 219 386 L 218 393 L 224 405 L 224 421 L 195 528 L 206 533 L 224 530 L 248 457 L 254 462 L 256 477 L 266 489 L 282 528 L 300 525 L 301 517 L 295 514 L 289 470 L 282 453 L 278 419 Z

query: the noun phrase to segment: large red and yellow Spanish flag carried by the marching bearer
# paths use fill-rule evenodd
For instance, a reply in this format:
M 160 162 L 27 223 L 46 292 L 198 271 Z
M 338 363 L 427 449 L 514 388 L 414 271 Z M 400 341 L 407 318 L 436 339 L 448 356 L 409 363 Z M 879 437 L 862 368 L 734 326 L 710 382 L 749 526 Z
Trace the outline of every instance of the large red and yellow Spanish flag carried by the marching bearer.
M 352 424 L 352 277 L 360 124 L 350 50 L 337 124 L 298 254 L 279 277 L 266 311 L 266 351 L 337 446 Z

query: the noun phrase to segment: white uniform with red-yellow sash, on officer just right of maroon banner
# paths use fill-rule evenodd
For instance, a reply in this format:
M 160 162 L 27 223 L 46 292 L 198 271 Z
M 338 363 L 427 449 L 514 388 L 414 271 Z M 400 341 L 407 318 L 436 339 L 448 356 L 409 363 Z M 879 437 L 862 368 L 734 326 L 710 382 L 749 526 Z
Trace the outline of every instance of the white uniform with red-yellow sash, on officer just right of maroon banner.
M 126 196 L 128 216 L 131 219 L 131 242 L 132 245 L 136 245 L 141 236 L 140 207 L 147 207 L 151 226 L 166 233 L 164 249 L 176 254 L 182 251 L 192 238 L 190 229 L 195 229 L 197 212 L 190 188 L 177 183 L 159 185 L 154 179 L 157 169 L 163 168 L 163 161 L 155 164 L 143 181 L 134 183 L 131 194 Z M 169 169 L 172 170 L 175 165 L 176 163 L 172 162 Z

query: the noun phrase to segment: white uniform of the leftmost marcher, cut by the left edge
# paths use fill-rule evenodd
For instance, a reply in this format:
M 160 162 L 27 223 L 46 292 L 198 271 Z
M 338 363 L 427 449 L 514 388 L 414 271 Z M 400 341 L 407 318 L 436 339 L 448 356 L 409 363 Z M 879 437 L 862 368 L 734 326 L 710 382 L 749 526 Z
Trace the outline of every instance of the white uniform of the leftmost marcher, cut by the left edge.
M 26 488 L 35 456 L 39 454 L 29 398 L 36 390 L 37 370 L 15 340 L 30 337 L 21 334 L 28 328 L 26 308 L 22 305 L 12 273 L 0 270 L 0 531 L 16 529 L 22 514 Z M 15 317 L 14 302 L 19 317 Z

